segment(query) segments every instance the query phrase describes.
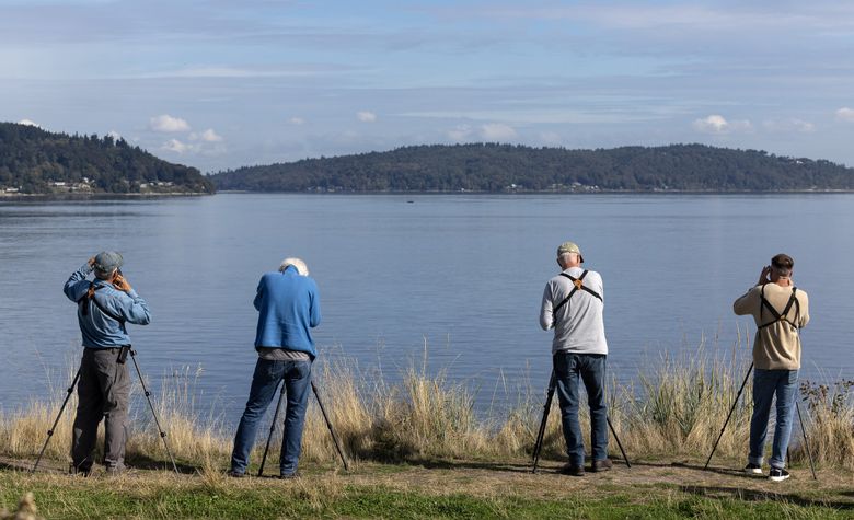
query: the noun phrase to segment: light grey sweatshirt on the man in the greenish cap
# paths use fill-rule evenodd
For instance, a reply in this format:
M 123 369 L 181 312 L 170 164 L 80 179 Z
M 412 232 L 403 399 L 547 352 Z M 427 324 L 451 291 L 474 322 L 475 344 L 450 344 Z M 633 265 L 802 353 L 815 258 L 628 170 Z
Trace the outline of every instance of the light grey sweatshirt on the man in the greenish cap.
M 584 273 L 580 267 L 570 267 L 564 273 L 578 278 Z M 602 277 L 599 273 L 588 270 L 582 280 L 588 287 L 604 299 Z M 602 310 L 604 304 L 598 298 L 584 290 L 575 291 L 573 298 L 557 310 L 554 308 L 573 290 L 573 281 L 565 276 L 555 276 L 545 285 L 543 302 L 540 307 L 540 326 L 543 331 L 554 327 L 552 354 L 568 351 L 576 354 L 608 354 L 608 343 L 604 337 Z

